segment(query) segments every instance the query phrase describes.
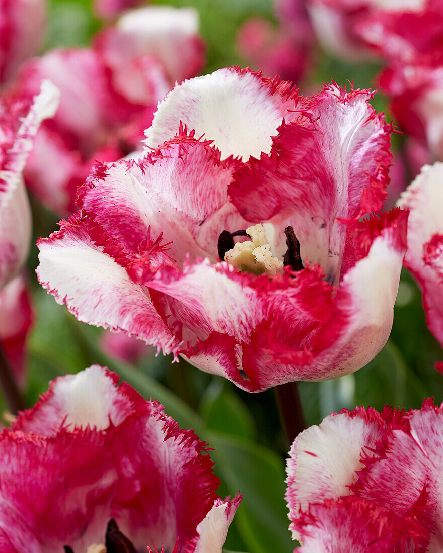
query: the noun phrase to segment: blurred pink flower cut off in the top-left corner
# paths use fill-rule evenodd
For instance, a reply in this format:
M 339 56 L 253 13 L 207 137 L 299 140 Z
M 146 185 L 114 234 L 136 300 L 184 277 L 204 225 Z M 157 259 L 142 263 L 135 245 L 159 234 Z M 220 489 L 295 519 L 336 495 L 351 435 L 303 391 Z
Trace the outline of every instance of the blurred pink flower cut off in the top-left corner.
M 25 59 L 38 53 L 45 19 L 45 0 L 0 0 L 1 84 L 13 78 Z

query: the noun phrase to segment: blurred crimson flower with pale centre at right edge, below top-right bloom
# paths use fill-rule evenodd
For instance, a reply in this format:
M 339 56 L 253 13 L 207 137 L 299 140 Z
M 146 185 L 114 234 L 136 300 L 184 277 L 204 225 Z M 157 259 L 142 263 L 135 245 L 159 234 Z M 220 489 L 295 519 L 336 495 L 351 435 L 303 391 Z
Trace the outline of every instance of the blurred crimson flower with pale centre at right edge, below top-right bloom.
M 443 66 L 393 65 L 379 76 L 401 129 L 443 160 Z

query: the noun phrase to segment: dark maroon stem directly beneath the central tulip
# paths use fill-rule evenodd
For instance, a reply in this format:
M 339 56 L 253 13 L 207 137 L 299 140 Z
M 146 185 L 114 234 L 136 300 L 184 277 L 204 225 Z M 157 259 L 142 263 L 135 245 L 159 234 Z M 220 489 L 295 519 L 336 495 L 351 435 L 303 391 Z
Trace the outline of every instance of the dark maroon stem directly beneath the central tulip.
M 286 445 L 291 447 L 292 442 L 298 434 L 306 428 L 305 415 L 303 415 L 297 383 L 288 382 L 280 384 L 274 390 L 281 424 L 285 431 Z

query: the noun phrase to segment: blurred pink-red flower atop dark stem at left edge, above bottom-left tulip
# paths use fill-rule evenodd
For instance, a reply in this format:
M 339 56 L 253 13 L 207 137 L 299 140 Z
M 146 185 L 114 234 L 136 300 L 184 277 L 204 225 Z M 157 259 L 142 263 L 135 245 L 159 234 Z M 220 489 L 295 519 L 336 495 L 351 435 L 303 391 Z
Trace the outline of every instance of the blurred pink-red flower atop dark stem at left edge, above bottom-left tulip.
M 26 279 L 19 275 L 0 291 L 0 344 L 21 386 L 25 381 L 26 343 L 32 322 L 33 311 Z

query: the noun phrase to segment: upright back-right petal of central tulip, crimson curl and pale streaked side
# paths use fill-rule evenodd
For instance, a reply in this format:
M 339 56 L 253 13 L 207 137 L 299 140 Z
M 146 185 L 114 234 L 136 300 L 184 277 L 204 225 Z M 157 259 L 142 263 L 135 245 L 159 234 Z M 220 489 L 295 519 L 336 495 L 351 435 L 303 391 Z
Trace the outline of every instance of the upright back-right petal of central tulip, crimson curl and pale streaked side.
M 229 194 L 250 221 L 271 221 L 276 251 L 286 251 L 291 225 L 302 259 L 320 263 L 338 283 L 346 231 L 338 218 L 379 211 L 392 154 L 392 131 L 375 113 L 370 91 L 325 88 L 300 103 L 303 117 L 282 126 L 272 151 L 234 174 Z

